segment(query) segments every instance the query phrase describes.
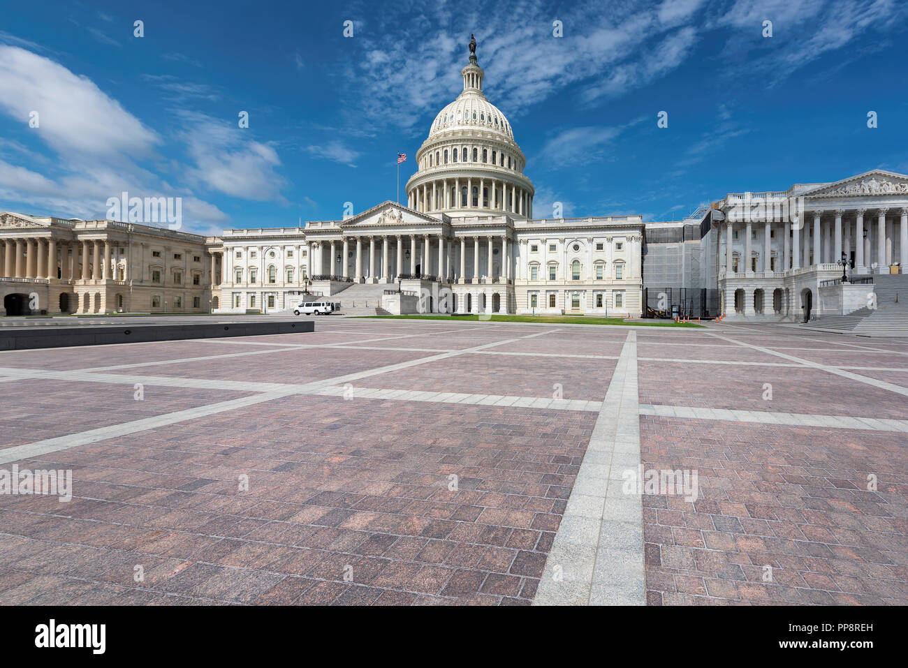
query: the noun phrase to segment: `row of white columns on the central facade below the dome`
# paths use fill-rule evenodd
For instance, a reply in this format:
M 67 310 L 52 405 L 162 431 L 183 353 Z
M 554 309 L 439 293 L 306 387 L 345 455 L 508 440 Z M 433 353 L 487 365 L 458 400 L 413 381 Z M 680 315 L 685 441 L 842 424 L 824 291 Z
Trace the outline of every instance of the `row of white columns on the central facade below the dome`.
M 330 271 L 331 276 L 338 276 L 337 268 L 335 266 L 335 255 L 334 255 L 334 244 L 342 245 L 342 254 L 341 254 L 341 274 L 340 276 L 343 279 L 350 278 L 350 263 L 347 261 L 350 256 L 350 243 L 355 240 L 356 244 L 356 261 L 354 265 L 354 272 L 356 279 L 360 277 L 365 278 L 366 280 L 380 280 L 382 282 L 390 282 L 394 280 L 395 277 L 400 275 L 409 275 L 415 276 L 417 271 L 417 257 L 421 256 L 419 261 L 419 273 L 421 275 L 429 275 L 432 277 L 440 277 L 441 280 L 448 280 L 457 278 L 459 282 L 465 282 L 466 278 L 466 258 L 467 258 L 467 237 L 459 237 L 460 240 L 460 255 L 459 255 L 459 272 L 456 271 L 457 263 L 454 260 L 454 254 L 456 252 L 456 240 L 447 239 L 446 237 L 433 234 L 397 234 L 394 235 L 397 240 L 397 253 L 395 256 L 396 267 L 394 272 L 389 273 L 390 263 L 389 263 L 389 247 L 390 247 L 390 238 L 387 235 L 380 237 L 381 241 L 381 263 L 378 269 L 380 273 L 376 272 L 377 264 L 376 259 L 376 237 L 369 236 L 369 267 L 368 274 L 363 273 L 363 236 L 357 237 L 344 237 L 342 241 L 323 241 L 322 243 L 327 244 L 328 254 L 331 258 L 330 260 Z M 420 240 L 421 237 L 421 240 Z M 404 265 L 404 244 L 409 246 L 410 250 L 410 266 L 409 268 Z M 430 269 L 431 265 L 431 247 L 432 241 L 437 241 L 438 246 L 438 263 L 436 264 L 437 271 L 432 272 Z M 473 282 L 479 281 L 479 247 L 480 243 L 484 240 L 488 242 L 489 252 L 488 252 L 488 273 L 486 274 L 490 280 L 501 279 L 501 271 L 499 271 L 498 276 L 493 276 L 494 273 L 494 247 L 495 240 L 499 241 L 500 248 L 502 249 L 503 262 L 501 266 L 504 268 L 503 278 L 510 279 L 510 265 L 511 265 L 511 249 L 510 241 L 507 236 L 504 235 L 485 235 L 479 236 L 475 235 L 472 237 L 473 240 Z M 312 242 L 310 242 L 311 245 Z M 420 252 L 421 251 L 421 252 Z M 312 251 L 309 250 L 309 257 L 312 257 Z M 320 258 L 320 267 L 317 271 L 319 274 L 325 274 L 325 267 L 322 265 L 323 255 L 319 255 Z M 314 270 L 313 270 L 314 271 Z

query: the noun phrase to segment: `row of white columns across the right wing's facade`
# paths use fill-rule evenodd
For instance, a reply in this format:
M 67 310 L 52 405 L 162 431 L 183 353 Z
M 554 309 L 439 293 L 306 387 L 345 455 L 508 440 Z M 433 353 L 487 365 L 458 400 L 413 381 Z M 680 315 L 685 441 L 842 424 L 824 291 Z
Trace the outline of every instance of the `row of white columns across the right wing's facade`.
M 886 218 L 889 209 L 878 209 L 875 214 L 868 216 L 866 221 L 866 230 L 864 228 L 864 209 L 858 209 L 854 213 L 854 231 L 852 221 L 844 221 L 844 210 L 835 211 L 834 221 L 822 221 L 824 211 L 813 211 L 813 236 L 808 231 L 807 224 L 800 229 L 795 227 L 795 233 L 792 234 L 792 223 L 785 221 L 784 236 L 782 245 L 782 266 L 776 270 L 799 269 L 801 266 L 811 266 L 811 252 L 813 252 L 813 264 L 834 264 L 838 262 L 844 252 L 846 259 L 851 258 L 851 252 L 854 250 L 854 271 L 864 273 L 867 268 L 874 262 L 870 257 L 871 235 L 873 235 L 873 215 L 876 217 L 876 259 L 875 263 L 880 270 L 886 267 L 892 258 L 891 237 L 886 234 Z M 742 273 L 750 271 L 750 258 L 753 253 L 752 239 L 753 226 L 762 225 L 763 234 L 763 270 L 769 269 L 769 258 L 771 256 L 771 222 L 747 221 L 743 223 L 745 232 L 745 250 L 744 250 L 744 267 Z M 727 222 L 725 225 L 725 271 L 733 272 L 733 223 Z M 866 232 L 866 236 L 865 236 Z M 802 238 L 803 237 L 803 238 Z M 853 248 L 854 245 L 854 248 Z M 901 221 L 899 230 L 899 261 L 903 268 L 908 267 L 908 208 L 901 210 Z

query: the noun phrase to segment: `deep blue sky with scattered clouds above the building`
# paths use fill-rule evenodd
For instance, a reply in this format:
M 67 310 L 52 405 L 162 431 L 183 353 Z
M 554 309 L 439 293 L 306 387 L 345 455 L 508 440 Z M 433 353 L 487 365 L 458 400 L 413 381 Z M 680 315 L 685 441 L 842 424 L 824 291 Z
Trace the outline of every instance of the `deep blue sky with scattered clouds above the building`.
M 125 190 L 182 197 L 183 229 L 209 234 L 364 211 L 395 199 L 396 152 L 401 183 L 415 169 L 470 33 L 540 217 L 561 201 L 672 220 L 726 192 L 908 172 L 906 15 L 903 0 L 5 3 L 0 211 L 104 218 Z

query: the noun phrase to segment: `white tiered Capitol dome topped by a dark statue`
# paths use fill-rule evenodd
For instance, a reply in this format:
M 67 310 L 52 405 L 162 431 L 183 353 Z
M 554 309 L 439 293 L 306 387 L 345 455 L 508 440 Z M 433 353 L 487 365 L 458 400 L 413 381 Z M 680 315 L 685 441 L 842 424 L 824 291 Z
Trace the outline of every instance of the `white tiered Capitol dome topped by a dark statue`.
M 417 172 L 407 182 L 408 205 L 449 216 L 532 216 L 533 183 L 526 158 L 505 114 L 482 92 L 485 73 L 470 42 L 469 64 L 460 71 L 463 92 L 445 106 L 416 153 Z

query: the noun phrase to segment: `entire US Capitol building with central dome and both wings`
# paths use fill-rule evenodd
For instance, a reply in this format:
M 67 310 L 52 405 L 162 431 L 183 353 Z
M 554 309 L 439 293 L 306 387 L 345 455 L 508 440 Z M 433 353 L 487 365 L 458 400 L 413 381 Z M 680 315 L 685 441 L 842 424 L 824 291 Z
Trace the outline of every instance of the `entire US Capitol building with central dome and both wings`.
M 908 267 L 908 176 L 880 170 L 730 193 L 685 221 L 534 218 L 475 41 L 460 74 L 406 206 L 220 237 L 7 211 L 0 314 L 271 312 L 325 298 L 348 313 L 640 316 L 683 295 L 696 315 L 795 321 L 859 308 L 874 273 Z M 836 283 L 842 258 L 855 283 Z

